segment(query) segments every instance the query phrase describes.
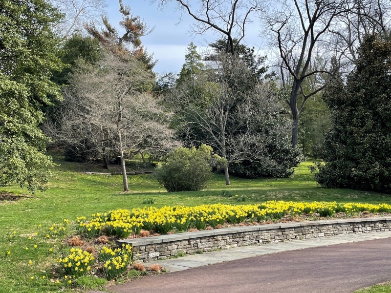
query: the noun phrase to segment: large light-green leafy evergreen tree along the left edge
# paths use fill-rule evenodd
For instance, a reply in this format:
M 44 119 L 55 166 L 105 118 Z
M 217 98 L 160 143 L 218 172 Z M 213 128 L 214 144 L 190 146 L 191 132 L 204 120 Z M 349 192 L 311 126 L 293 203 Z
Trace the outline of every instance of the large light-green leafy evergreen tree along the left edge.
M 31 192 L 44 189 L 53 166 L 39 125 L 42 107 L 60 98 L 50 81 L 62 66 L 51 30 L 59 18 L 45 1 L 1 2 L 0 186 L 17 182 Z

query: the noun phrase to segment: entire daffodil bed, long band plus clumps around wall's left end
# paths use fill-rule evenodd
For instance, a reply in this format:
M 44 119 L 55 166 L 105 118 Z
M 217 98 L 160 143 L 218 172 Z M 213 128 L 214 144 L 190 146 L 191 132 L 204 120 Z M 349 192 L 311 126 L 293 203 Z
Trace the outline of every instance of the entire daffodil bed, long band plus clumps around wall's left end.
M 391 205 L 388 204 L 291 201 L 268 201 L 256 205 L 117 209 L 78 217 L 74 225 L 67 219 L 48 228 L 39 225 L 31 234 L 18 235 L 16 231 L 10 231 L 5 236 L 9 250 L 4 251 L 0 258 L 12 262 L 14 266 L 19 264 L 17 270 L 21 271 L 20 275 L 27 276 L 30 289 L 45 288 L 49 292 L 58 288 L 84 286 L 83 282 L 77 285 L 82 278 L 91 277 L 93 282 L 102 278 L 118 280 L 124 275 L 129 278 L 130 272 L 135 271 L 135 265 L 139 266 L 138 276 L 143 271 L 146 273 L 141 264 L 131 262 L 130 246 L 117 248 L 112 241 L 130 235 L 146 235 L 140 234 L 141 230 L 164 234 L 243 223 L 250 225 L 326 217 L 368 217 L 390 213 Z M 76 237 L 79 242 L 70 241 L 71 237 L 75 238 L 75 234 L 80 237 Z M 102 238 L 106 241 L 99 241 Z

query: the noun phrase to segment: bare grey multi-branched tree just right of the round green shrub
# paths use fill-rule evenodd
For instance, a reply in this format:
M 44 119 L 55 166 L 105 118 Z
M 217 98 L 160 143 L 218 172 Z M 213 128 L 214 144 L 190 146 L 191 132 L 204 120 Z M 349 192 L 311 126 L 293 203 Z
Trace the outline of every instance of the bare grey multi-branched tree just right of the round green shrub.
M 269 138 L 284 136 L 290 123 L 279 115 L 283 110 L 274 84 L 243 86 L 252 73 L 239 58 L 222 54 L 210 66 L 175 88 L 169 102 L 188 127 L 188 140 L 212 146 L 227 160 L 225 183 L 230 185 L 229 165 L 244 159 L 264 162 Z M 193 130 L 202 132 L 202 140 Z

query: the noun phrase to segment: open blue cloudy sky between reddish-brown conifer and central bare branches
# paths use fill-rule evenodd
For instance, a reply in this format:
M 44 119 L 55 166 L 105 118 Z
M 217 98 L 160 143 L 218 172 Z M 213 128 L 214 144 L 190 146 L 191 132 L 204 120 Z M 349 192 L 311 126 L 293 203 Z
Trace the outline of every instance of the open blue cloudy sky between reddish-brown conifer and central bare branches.
M 117 24 L 121 20 L 118 1 L 106 0 L 106 2 L 110 23 Z M 180 11 L 175 11 L 174 1 L 169 2 L 163 9 L 158 7 L 158 3 L 150 4 L 149 0 L 123 0 L 123 3 L 130 6 L 133 15 L 140 16 L 149 27 L 153 28 L 153 31 L 141 41 L 148 53 L 153 53 L 154 59 L 158 60 L 154 67 L 156 73 L 178 73 L 184 63 L 186 47 L 190 42 L 194 42 L 202 54 L 208 43 L 219 38 L 219 35 L 212 33 L 202 36 L 191 34 L 193 19 L 183 14 L 179 22 L 181 14 Z M 256 34 L 253 31 L 253 34 L 247 37 L 246 33 L 246 41 L 256 42 L 254 38 Z M 253 46 L 255 43 L 250 45 Z

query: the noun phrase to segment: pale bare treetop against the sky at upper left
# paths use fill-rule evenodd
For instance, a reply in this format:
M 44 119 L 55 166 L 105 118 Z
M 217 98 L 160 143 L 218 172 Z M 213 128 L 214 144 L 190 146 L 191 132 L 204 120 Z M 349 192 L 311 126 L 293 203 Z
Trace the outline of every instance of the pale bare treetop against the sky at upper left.
M 50 0 L 65 18 L 54 29 L 65 39 L 75 32 L 82 32 L 83 25 L 100 21 L 107 7 L 105 0 Z

